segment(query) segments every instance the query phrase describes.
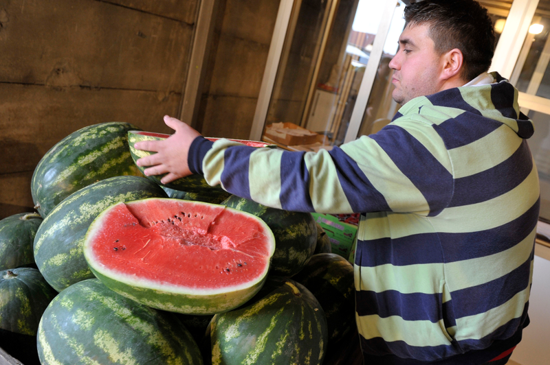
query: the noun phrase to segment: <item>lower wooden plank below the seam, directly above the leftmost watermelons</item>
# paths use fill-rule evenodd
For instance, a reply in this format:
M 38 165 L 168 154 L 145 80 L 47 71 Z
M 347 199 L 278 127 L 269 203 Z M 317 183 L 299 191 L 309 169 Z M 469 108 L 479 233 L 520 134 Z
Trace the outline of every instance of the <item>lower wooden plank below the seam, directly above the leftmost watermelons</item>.
M 91 124 L 126 121 L 173 132 L 162 117 L 175 115 L 180 99 L 154 91 L 0 84 L 0 172 L 34 170 L 55 143 Z

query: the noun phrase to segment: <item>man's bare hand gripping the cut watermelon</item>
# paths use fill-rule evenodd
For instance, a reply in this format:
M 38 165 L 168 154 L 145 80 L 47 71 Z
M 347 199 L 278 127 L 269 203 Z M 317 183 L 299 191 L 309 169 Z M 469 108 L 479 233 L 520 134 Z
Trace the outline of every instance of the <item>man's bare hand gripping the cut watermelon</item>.
M 166 184 L 191 174 L 187 155 L 192 141 L 201 134 L 183 121 L 168 115 L 164 116 L 164 123 L 175 133 L 164 141 L 137 142 L 135 148 L 157 152 L 138 159 L 136 163 L 138 166 L 148 166 L 144 169 L 146 176 L 167 174 L 161 180 L 161 183 Z

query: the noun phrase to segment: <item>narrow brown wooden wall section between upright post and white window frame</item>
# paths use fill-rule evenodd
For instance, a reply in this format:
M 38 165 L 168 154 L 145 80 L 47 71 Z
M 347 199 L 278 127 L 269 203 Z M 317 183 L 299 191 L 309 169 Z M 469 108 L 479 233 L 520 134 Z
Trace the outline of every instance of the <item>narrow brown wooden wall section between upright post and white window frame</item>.
M 221 0 L 197 128 L 248 139 L 280 0 Z

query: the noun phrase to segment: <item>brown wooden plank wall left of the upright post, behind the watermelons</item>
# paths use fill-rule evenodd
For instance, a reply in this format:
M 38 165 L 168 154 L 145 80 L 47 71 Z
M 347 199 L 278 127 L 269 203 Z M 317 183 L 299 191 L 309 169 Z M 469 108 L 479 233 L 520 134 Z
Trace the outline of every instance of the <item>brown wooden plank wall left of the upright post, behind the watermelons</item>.
M 32 211 L 34 167 L 71 132 L 105 121 L 169 132 L 198 3 L 0 2 L 0 219 Z

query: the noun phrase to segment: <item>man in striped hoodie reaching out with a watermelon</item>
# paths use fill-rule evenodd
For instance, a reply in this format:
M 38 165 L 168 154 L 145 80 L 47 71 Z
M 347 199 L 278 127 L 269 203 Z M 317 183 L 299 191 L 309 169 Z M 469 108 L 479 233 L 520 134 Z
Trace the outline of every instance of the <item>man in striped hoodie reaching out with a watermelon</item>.
M 406 8 L 392 123 L 331 152 L 142 142 L 163 182 L 191 173 L 262 204 L 361 212 L 356 318 L 366 364 L 505 364 L 529 319 L 539 209 L 533 125 L 497 73 L 492 23 L 473 0 Z

